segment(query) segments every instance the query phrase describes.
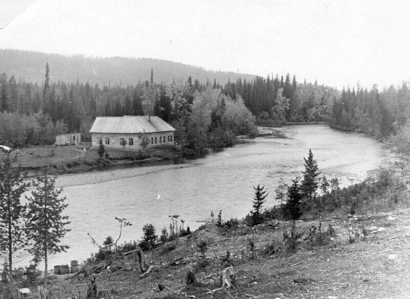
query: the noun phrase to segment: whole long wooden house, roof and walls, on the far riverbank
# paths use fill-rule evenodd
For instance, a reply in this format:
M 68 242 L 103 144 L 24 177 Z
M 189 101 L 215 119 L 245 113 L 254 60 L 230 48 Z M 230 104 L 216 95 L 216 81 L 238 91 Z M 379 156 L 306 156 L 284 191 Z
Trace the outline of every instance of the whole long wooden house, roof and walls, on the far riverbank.
M 90 129 L 91 146 L 104 144 L 106 149 L 139 150 L 173 146 L 175 129 L 157 116 L 97 117 Z

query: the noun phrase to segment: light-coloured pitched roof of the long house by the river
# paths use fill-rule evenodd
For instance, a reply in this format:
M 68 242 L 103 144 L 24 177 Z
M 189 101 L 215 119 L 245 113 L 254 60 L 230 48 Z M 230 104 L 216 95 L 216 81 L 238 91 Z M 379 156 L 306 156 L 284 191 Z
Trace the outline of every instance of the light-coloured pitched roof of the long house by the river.
M 97 117 L 90 133 L 155 133 L 175 129 L 157 116 Z

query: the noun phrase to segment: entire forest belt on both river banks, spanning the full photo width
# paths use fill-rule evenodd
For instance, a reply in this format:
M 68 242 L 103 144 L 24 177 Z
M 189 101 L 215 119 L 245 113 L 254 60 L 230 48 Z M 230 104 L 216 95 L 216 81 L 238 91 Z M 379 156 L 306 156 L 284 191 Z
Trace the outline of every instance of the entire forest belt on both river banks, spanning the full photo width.
M 1 70 L 0 70 L 1 71 Z M 81 132 L 89 139 L 96 116 L 156 115 L 176 129 L 187 155 L 231 145 L 235 135 L 256 136 L 256 125 L 326 121 L 334 128 L 364 132 L 377 139 L 407 142 L 410 92 L 405 83 L 379 92 L 298 83 L 296 77 L 238 77 L 221 84 L 191 75 L 171 83 L 148 80 L 100 86 L 89 81 L 52 80 L 43 66 L 42 83 L 0 75 L 0 141 L 13 147 L 52 144 L 56 134 Z M 404 149 L 404 147 L 402 148 Z

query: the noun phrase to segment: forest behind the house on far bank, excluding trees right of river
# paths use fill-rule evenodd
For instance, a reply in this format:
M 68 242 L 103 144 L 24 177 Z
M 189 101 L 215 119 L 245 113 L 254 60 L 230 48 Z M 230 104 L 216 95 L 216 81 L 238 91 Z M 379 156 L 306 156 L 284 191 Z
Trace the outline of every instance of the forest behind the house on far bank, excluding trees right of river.
M 205 147 L 230 145 L 238 134 L 257 135 L 256 121 L 329 119 L 329 102 L 337 90 L 317 83 L 297 84 L 285 79 L 238 78 L 221 86 L 216 78 L 200 82 L 156 83 L 149 80 L 127 86 L 99 86 L 89 82 L 52 81 L 48 63 L 42 84 L 0 75 L 2 142 L 12 146 L 50 144 L 63 132 L 89 137 L 96 116 L 157 115 L 174 125 L 179 141 L 201 152 Z M 257 116 L 257 118 L 255 117 Z M 200 145 L 199 145 L 200 144 Z

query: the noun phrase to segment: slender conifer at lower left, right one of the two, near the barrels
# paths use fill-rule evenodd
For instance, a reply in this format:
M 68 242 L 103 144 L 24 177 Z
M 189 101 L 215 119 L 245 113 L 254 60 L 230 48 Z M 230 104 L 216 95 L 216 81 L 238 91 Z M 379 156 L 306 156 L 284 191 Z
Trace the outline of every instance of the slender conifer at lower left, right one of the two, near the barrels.
M 69 246 L 59 245 L 61 238 L 70 229 L 65 228 L 70 222 L 68 216 L 63 216 L 68 204 L 66 197 L 59 197 L 63 188 L 56 189 L 55 176 L 49 175 L 50 168 L 45 166 L 36 174 L 33 185 L 36 187 L 27 198 L 28 202 L 28 232 L 32 247 L 31 254 L 44 259 L 44 284 L 47 286 L 48 256 L 57 252 L 65 252 Z

